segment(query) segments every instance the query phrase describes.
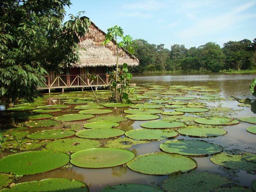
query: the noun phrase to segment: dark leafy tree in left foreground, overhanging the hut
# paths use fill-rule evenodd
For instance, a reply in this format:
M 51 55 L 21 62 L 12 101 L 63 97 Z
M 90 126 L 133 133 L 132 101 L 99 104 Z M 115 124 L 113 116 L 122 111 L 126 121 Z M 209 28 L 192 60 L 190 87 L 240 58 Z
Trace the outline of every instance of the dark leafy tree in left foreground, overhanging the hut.
M 0 2 L 0 98 L 9 102 L 41 96 L 46 70 L 62 72 L 79 61 L 79 38 L 89 19 L 70 15 L 70 0 L 2 0 Z

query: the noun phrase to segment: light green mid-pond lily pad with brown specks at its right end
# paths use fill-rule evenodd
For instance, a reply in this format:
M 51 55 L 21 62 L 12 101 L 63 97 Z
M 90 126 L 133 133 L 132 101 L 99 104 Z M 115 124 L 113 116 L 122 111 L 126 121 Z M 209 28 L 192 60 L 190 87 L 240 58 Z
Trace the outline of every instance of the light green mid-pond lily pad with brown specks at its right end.
M 134 129 L 127 131 L 125 135 L 137 140 L 162 140 L 178 136 L 178 132 L 172 129 Z

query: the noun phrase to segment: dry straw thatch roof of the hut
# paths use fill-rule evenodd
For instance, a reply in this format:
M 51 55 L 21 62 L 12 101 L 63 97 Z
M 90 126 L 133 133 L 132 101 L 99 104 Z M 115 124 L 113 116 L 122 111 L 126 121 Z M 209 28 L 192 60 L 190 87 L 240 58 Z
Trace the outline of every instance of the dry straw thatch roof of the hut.
M 102 45 L 106 33 L 100 30 L 93 22 L 89 27 L 88 33 L 80 39 L 80 47 L 86 50 L 80 50 L 80 62 L 73 67 L 97 67 L 116 65 L 116 45 L 115 41 Z M 118 48 L 119 52 L 123 50 Z M 139 60 L 132 54 L 125 51 L 122 57 L 118 58 L 118 63 L 122 65 L 127 63 L 129 66 L 139 64 Z

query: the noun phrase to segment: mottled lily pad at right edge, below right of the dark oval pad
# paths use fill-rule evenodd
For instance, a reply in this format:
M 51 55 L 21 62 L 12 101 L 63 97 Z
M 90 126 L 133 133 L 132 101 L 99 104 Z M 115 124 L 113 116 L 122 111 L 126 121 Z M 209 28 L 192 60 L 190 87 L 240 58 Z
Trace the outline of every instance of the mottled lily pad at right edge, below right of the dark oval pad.
M 229 169 L 242 169 L 246 171 L 256 170 L 256 163 L 251 161 L 246 161 L 244 159 L 246 156 L 241 154 L 228 154 L 228 153 L 219 153 L 213 155 L 210 160 L 217 164 L 224 166 Z

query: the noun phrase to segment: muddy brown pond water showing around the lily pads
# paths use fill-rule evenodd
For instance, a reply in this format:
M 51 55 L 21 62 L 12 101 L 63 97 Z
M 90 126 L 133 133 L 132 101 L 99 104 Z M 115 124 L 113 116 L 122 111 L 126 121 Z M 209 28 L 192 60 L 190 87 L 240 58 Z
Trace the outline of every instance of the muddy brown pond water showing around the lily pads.
M 182 116 L 192 116 L 192 117 L 210 117 L 210 116 L 221 116 L 221 117 L 230 117 L 232 119 L 239 119 L 242 117 L 256 117 L 256 115 L 251 111 L 250 107 L 241 107 L 238 106 L 239 102 L 234 100 L 231 96 L 235 96 L 238 98 L 253 98 L 252 94 L 249 90 L 249 84 L 252 82 L 252 80 L 255 78 L 255 74 L 213 74 L 213 73 L 206 73 L 206 74 L 134 74 L 132 78 L 132 83 L 136 83 L 137 86 L 139 86 L 139 89 L 142 89 L 142 91 L 136 91 L 137 96 L 138 95 L 149 95 L 150 98 L 146 98 L 143 100 L 140 100 L 140 102 L 151 102 L 152 100 L 173 100 L 175 97 L 194 97 L 194 98 L 206 98 L 206 99 L 196 99 L 196 100 L 173 100 L 174 101 L 184 101 L 184 102 L 192 102 L 192 105 L 199 105 L 198 103 L 194 102 L 202 102 L 203 105 L 205 105 L 205 108 L 210 109 L 209 112 L 200 112 L 200 113 L 187 113 L 185 112 Z M 155 87 L 154 87 L 155 86 Z M 156 88 L 157 86 L 160 86 L 160 88 Z M 163 87 L 161 87 L 163 86 Z M 171 87 L 169 89 L 169 86 Z M 168 94 L 159 94 L 159 93 L 152 93 L 152 94 L 143 94 L 146 89 L 146 91 L 155 91 L 158 92 L 158 90 L 161 90 L 161 93 L 169 93 L 168 90 L 177 90 L 177 88 L 174 89 L 175 86 L 178 87 L 178 91 L 181 92 L 187 92 L 187 94 L 182 95 L 168 95 Z M 204 86 L 206 86 L 206 89 L 213 89 L 215 91 L 210 92 L 210 95 L 212 95 L 211 99 L 208 100 L 209 97 L 207 95 L 200 95 L 202 93 L 208 93 L 208 92 L 198 92 L 200 89 L 204 89 Z M 182 87 L 184 90 L 182 90 Z M 186 88 L 188 88 L 186 90 Z M 194 87 L 194 88 L 191 88 Z M 198 88 L 195 88 L 198 87 Z M 151 89 L 153 88 L 153 89 Z M 181 90 L 180 90 L 181 89 Z M 221 90 L 221 91 L 218 91 Z M 165 92 L 164 92 L 165 91 Z M 88 92 L 88 91 L 87 91 Z M 102 92 L 102 93 L 100 93 Z M 107 102 L 106 100 L 106 93 L 105 91 L 97 91 L 96 93 L 98 97 L 100 97 L 101 102 Z M 174 91 L 175 92 L 175 91 Z M 90 97 L 89 100 L 93 99 L 93 95 L 91 92 L 81 94 L 79 92 L 70 92 L 70 93 L 64 93 L 64 94 L 52 94 L 47 95 L 45 98 L 47 99 L 46 103 L 43 103 L 44 105 L 68 105 L 69 108 L 62 109 L 60 112 L 54 112 L 49 113 L 55 116 L 61 116 L 63 114 L 71 114 L 71 113 L 78 113 L 79 110 L 74 109 L 76 106 L 86 105 L 86 103 L 80 103 L 76 104 L 69 104 L 65 103 L 69 101 L 74 101 L 74 99 L 77 98 L 84 98 L 84 97 Z M 172 93 L 172 92 L 170 92 Z M 198 94 L 196 94 L 198 93 Z M 185 96 L 184 96 L 185 95 Z M 60 98 L 61 97 L 61 98 Z M 73 98 L 72 98 L 73 97 Z M 75 98 L 77 97 L 77 98 Z M 215 99 L 213 99 L 215 98 Z M 219 99 L 221 98 L 221 99 Z M 67 101 L 64 101 L 67 100 Z M 86 101 L 86 98 L 84 98 L 82 101 Z M 162 105 L 160 103 L 160 105 Z M 164 105 L 163 105 L 164 106 Z M 231 108 L 227 109 L 227 111 L 216 111 L 214 108 Z M 105 114 L 95 114 L 95 116 L 126 116 L 127 114 L 124 113 L 124 110 L 131 109 L 129 107 L 122 107 L 122 108 L 110 108 L 106 107 L 104 109 L 113 110 L 113 112 L 105 113 Z M 200 109 L 200 108 L 198 108 Z M 202 108 L 201 108 L 202 109 Z M 162 107 L 162 110 L 165 112 L 172 112 L 174 111 L 174 108 L 168 108 L 168 107 Z M 6 114 L 5 111 L 1 111 L 1 114 Z M 47 113 L 48 114 L 48 113 Z M 159 119 L 161 120 L 164 117 L 170 117 L 168 115 L 164 114 L 157 114 L 160 116 Z M 122 129 L 124 131 L 129 131 L 132 129 L 140 129 L 142 128 L 140 125 L 143 123 L 147 123 L 147 121 L 143 120 L 127 120 L 127 121 L 120 121 L 118 122 L 120 125 L 117 127 L 117 129 Z M 10 118 L 10 117 L 3 117 L 1 116 L 0 123 L 1 124 L 20 124 L 24 123 L 25 121 L 19 120 L 18 118 Z M 29 131 L 29 133 L 35 133 L 42 130 L 49 130 L 49 129 L 58 129 L 58 128 L 70 128 L 71 125 L 77 125 L 78 129 L 81 129 L 83 124 L 89 123 L 86 120 L 80 120 L 80 121 L 69 121 L 69 122 L 63 122 L 61 125 L 57 125 L 57 127 L 41 127 L 41 128 L 34 128 L 31 127 L 29 129 L 25 129 L 24 131 Z M 197 123 L 185 121 L 183 123 L 187 123 L 188 125 L 198 125 Z M 202 124 L 201 124 L 202 126 Z M 123 140 L 121 141 L 121 146 L 128 145 L 128 148 L 126 148 L 129 151 L 132 151 L 136 156 L 148 154 L 148 153 L 155 153 L 155 152 L 161 152 L 159 146 L 160 144 L 166 142 L 167 140 L 177 140 L 177 139 L 186 139 L 186 140 L 204 140 L 216 145 L 220 145 L 223 147 L 224 151 L 227 151 L 229 153 L 238 153 L 238 152 L 249 152 L 249 153 L 256 153 L 256 135 L 252 134 L 248 131 L 246 131 L 246 128 L 253 126 L 253 124 L 246 123 L 246 122 L 240 122 L 239 124 L 234 125 L 227 125 L 220 127 L 221 129 L 224 129 L 227 131 L 227 134 L 217 137 L 210 137 L 210 138 L 192 138 L 188 136 L 182 136 L 178 135 L 176 138 L 173 139 L 163 139 L 163 140 L 155 140 L 150 142 L 141 142 L 139 144 L 133 145 L 129 140 Z M 76 128 L 77 128 L 76 127 Z M 205 127 L 209 127 L 206 125 Z M 74 128 L 73 128 L 74 129 Z M 120 138 L 124 138 L 125 136 L 120 136 Z M 101 142 L 98 146 L 106 146 L 106 144 L 111 141 L 115 140 L 116 138 L 110 138 L 110 139 L 98 139 L 99 142 Z M 46 142 L 50 142 L 49 140 Z M 112 143 L 113 144 L 113 143 Z M 130 145 L 130 146 L 129 146 Z M 115 146 L 114 144 L 112 146 Z M 41 147 L 41 148 L 44 148 Z M 40 148 L 39 148 L 40 149 Z M 23 151 L 22 151 L 23 152 Z M 3 158 L 7 155 L 13 154 L 13 153 L 19 153 L 18 151 L 11 152 L 8 150 L 0 152 L 0 158 Z M 163 153 L 163 152 L 162 152 Z M 183 157 L 183 156 L 182 156 Z M 249 172 L 246 170 L 235 170 L 235 169 L 226 169 L 221 165 L 217 165 L 210 161 L 210 158 L 212 156 L 209 155 L 204 157 L 192 157 L 197 162 L 197 168 L 195 169 L 195 172 L 202 172 L 202 171 L 212 171 L 217 172 L 223 176 L 228 177 L 230 180 L 232 180 L 235 184 L 251 187 L 252 181 L 256 179 L 255 172 Z M 157 165 L 152 164 L 150 165 L 152 167 L 155 167 Z M 149 168 L 150 169 L 150 168 Z M 54 169 L 45 173 L 38 173 L 38 174 L 32 174 L 32 175 L 24 175 L 22 177 L 19 177 L 18 180 L 15 180 L 15 183 L 20 182 L 26 182 L 26 181 L 34 181 L 34 180 L 42 180 L 45 178 L 71 178 L 78 181 L 82 181 L 86 183 L 86 185 L 89 187 L 91 192 L 94 191 L 100 191 L 102 188 L 104 188 L 106 185 L 115 185 L 115 184 L 122 184 L 122 183 L 138 183 L 138 184 L 147 184 L 152 185 L 155 187 L 158 187 L 161 182 L 168 178 L 167 175 L 163 176 L 156 176 L 156 175 L 150 175 L 150 174 L 143 174 L 136 171 L 133 171 L 132 169 L 129 169 L 126 165 L 121 166 L 115 166 L 110 168 L 102 168 L 102 169 L 91 169 L 91 168 L 83 168 L 79 166 L 66 166 L 61 167 L 58 169 Z

